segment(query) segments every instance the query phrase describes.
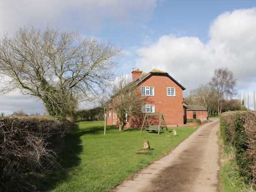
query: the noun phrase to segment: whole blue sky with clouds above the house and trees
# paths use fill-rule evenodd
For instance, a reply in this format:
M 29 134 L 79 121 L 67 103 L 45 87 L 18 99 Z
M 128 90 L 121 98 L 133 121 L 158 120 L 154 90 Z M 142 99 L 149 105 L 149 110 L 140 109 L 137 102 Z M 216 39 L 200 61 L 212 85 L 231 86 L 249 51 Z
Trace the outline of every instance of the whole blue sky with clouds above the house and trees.
M 19 27 L 47 25 L 79 31 L 123 48 L 117 73 L 167 71 L 189 90 L 227 67 L 243 95 L 256 91 L 255 0 L 1 0 L 0 36 Z M 37 98 L 0 95 L 0 112 L 44 113 Z

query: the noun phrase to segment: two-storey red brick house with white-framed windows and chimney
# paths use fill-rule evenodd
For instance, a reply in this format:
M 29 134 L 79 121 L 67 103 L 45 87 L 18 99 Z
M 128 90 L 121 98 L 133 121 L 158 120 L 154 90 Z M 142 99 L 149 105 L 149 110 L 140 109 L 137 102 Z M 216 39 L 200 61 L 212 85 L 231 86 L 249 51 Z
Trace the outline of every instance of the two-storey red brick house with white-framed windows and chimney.
M 185 124 L 187 107 L 182 102 L 182 91 L 185 90 L 185 87 L 173 79 L 172 76 L 158 69 L 143 73 L 143 71 L 133 68 L 132 80 L 140 87 L 142 97 L 147 96 L 147 102 L 142 105 L 143 113 L 163 113 L 168 127 Z M 115 112 L 110 111 L 106 115 L 108 116 L 108 125 L 118 125 Z M 139 128 L 143 118 L 129 118 L 125 128 Z

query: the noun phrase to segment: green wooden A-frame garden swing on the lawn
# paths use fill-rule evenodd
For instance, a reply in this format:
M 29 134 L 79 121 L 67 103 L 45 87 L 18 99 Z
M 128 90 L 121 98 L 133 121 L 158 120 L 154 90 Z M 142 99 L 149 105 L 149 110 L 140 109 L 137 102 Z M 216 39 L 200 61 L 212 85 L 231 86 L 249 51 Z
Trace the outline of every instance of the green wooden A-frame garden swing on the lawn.
M 150 125 L 149 116 L 159 116 L 158 125 L 153 125 L 153 124 Z M 145 123 L 146 119 L 147 119 L 146 124 L 145 124 L 145 130 L 146 131 L 150 131 L 150 130 L 153 131 L 153 132 L 158 131 L 158 135 L 159 135 L 160 132 L 162 132 L 163 128 L 166 128 L 166 131 L 168 131 L 166 123 L 165 123 L 165 118 L 163 118 L 162 113 L 146 113 L 145 118 L 144 118 L 143 123 L 142 123 L 142 126 L 141 126 L 141 129 L 140 129 L 140 133 L 142 132 L 142 128 L 144 126 L 144 123 Z M 162 125 L 162 120 L 163 120 L 164 125 Z

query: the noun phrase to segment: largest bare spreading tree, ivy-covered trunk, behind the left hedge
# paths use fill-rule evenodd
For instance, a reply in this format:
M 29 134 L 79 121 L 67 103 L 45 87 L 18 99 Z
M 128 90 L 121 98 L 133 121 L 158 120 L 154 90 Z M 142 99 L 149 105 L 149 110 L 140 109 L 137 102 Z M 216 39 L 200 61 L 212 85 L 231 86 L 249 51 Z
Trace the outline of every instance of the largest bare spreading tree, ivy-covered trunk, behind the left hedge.
M 0 91 L 18 89 L 41 99 L 52 116 L 72 115 L 78 102 L 114 77 L 120 56 L 121 49 L 110 42 L 23 27 L 0 41 Z

